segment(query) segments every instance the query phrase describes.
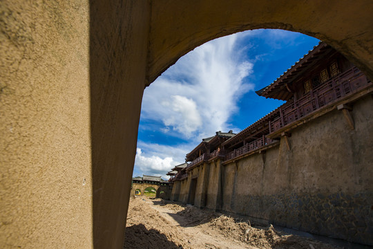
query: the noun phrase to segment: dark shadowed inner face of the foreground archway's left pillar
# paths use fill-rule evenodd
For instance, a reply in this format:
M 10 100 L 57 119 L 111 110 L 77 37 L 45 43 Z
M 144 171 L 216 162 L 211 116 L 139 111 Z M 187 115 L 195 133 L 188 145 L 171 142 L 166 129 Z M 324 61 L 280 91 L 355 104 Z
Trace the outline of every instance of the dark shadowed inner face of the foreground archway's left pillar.
M 146 84 L 149 1 L 90 1 L 95 248 L 122 248 Z

